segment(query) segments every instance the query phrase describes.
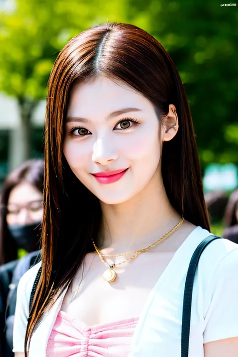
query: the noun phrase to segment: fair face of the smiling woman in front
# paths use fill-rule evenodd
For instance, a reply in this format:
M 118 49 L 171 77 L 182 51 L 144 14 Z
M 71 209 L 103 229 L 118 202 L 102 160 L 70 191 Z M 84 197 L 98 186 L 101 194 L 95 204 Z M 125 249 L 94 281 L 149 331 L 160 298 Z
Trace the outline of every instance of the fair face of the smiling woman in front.
M 99 200 L 122 203 L 160 175 L 161 132 L 148 99 L 124 83 L 96 77 L 72 88 L 63 151 L 73 173 Z M 93 175 L 125 169 L 115 182 Z

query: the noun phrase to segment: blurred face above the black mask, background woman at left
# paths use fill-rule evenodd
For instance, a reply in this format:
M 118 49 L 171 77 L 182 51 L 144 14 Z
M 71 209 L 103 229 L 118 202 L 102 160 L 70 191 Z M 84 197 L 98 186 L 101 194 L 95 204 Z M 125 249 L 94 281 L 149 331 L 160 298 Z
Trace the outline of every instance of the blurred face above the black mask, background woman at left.
M 18 184 L 9 195 L 7 212 L 9 225 L 40 222 L 43 215 L 42 193 L 29 183 Z

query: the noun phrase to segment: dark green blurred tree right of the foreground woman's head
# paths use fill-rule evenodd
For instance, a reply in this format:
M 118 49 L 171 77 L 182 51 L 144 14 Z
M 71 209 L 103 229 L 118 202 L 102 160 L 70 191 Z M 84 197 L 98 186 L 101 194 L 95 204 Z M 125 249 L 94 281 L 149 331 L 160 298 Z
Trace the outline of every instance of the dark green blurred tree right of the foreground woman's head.
M 179 70 L 202 168 L 237 165 L 237 6 L 221 7 L 217 0 L 129 0 L 128 6 L 129 22 L 155 36 Z

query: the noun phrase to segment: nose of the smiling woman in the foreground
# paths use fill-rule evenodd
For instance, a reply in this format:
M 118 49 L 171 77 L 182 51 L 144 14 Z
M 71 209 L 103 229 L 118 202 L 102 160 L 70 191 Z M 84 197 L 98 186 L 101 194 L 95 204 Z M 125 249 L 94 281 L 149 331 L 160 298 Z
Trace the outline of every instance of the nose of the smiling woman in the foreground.
M 116 160 L 118 153 L 108 139 L 97 139 L 93 145 L 92 161 L 95 164 L 107 165 L 109 161 Z

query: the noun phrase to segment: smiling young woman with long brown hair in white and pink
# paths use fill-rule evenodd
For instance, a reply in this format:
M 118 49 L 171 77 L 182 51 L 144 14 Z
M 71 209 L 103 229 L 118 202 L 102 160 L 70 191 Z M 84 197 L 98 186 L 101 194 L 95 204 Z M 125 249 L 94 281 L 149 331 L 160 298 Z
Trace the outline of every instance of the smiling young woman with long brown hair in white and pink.
M 116 23 L 71 39 L 49 79 L 45 148 L 42 263 L 19 284 L 15 356 L 179 357 L 185 277 L 210 227 L 161 44 Z M 237 355 L 237 281 L 238 245 L 217 239 L 195 277 L 191 357 Z

